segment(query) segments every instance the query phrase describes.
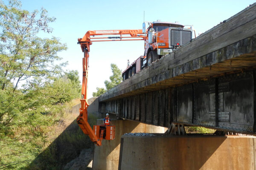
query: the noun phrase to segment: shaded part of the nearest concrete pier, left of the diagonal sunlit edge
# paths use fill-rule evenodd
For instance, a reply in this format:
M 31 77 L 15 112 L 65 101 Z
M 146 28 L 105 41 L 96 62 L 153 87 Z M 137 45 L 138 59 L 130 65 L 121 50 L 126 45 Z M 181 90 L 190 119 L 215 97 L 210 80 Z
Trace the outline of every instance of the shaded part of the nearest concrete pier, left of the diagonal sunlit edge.
M 226 136 L 203 134 L 187 136 L 125 135 L 121 139 L 119 169 L 199 170 L 205 169 L 205 167 L 209 168 L 210 166 L 207 164 L 214 164 L 221 159 L 220 157 L 215 158 L 216 156 L 213 155 L 226 139 Z M 226 160 L 229 159 L 226 158 Z

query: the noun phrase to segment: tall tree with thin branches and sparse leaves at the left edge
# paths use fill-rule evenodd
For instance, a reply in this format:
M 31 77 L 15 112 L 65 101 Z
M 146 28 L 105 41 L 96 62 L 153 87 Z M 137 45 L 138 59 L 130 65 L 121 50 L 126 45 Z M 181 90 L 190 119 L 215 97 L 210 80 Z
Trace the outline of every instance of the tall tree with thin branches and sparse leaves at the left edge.
M 65 64 L 54 62 L 61 59 L 57 53 L 66 50 L 66 45 L 55 37 L 38 37 L 42 31 L 52 32 L 48 24 L 54 20 L 44 8 L 29 12 L 21 9 L 20 1 L 9 0 L 6 5 L 0 0 L 0 89 L 6 101 L 12 101 L 0 105 L 0 124 L 5 127 L 17 125 L 15 120 L 21 113 L 26 115 L 46 105 L 47 98 L 38 100 L 44 96 L 41 89 L 45 82 L 53 82 L 53 77 L 61 74 L 61 66 Z M 26 83 L 17 91 L 23 80 Z

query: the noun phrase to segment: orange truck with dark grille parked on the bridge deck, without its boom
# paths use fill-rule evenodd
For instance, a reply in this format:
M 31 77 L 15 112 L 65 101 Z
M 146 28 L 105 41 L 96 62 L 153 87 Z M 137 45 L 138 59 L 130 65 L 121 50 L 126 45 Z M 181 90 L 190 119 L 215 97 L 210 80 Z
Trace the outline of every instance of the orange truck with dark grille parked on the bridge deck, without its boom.
M 148 28 L 146 28 L 148 23 Z M 123 81 L 130 78 L 143 68 L 162 56 L 171 53 L 175 49 L 190 42 L 195 37 L 192 26 L 179 23 L 155 21 L 143 23 L 143 33 L 146 35 L 144 41 L 144 55 L 140 56 L 122 72 Z

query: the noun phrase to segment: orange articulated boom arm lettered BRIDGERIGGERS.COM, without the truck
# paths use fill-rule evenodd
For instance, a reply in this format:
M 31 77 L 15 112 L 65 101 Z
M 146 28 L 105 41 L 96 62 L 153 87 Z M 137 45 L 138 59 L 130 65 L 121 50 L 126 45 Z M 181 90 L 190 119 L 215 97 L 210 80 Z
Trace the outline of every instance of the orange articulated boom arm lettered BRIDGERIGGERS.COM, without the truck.
M 120 35 L 119 37 L 94 37 L 97 35 Z M 123 37 L 122 35 L 130 35 Z M 90 37 L 93 36 L 93 37 Z M 107 40 L 106 40 L 107 39 Z M 109 39 L 115 39 L 115 40 L 109 40 Z M 119 39 L 119 40 L 116 40 Z M 145 40 L 145 34 L 143 34 L 143 31 L 141 29 L 137 30 L 99 30 L 99 31 L 87 31 L 87 33 L 84 35 L 83 38 L 78 39 L 78 44 L 81 45 L 81 49 L 84 52 L 84 58 L 83 58 L 83 80 L 82 80 L 82 92 L 81 92 L 81 108 L 80 108 L 80 114 L 77 117 L 77 123 L 81 130 L 84 132 L 84 134 L 89 135 L 91 141 L 93 141 L 98 146 L 101 146 L 102 139 L 103 139 L 103 133 L 104 129 L 111 129 L 112 128 L 103 128 L 103 129 L 97 129 L 96 126 L 94 127 L 94 131 L 90 127 L 88 120 L 87 120 L 87 108 L 89 106 L 87 101 L 87 88 L 88 88 L 88 59 L 89 59 L 89 52 L 90 52 L 90 45 L 92 45 L 92 42 L 99 42 L 99 41 L 133 41 L 133 40 Z M 100 127 L 103 127 L 105 125 L 102 125 Z M 115 127 L 113 126 L 113 129 Z M 97 132 L 97 130 L 100 130 Z M 113 131 L 113 134 L 115 132 Z M 110 138 L 109 140 L 112 140 L 111 137 L 112 131 L 110 131 Z

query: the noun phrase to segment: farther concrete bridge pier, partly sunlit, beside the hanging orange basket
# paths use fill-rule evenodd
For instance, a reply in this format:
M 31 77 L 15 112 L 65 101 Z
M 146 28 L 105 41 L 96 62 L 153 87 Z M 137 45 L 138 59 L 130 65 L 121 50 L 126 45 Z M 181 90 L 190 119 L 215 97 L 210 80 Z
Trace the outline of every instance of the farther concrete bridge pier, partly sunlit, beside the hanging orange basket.
M 93 154 L 93 170 L 118 170 L 121 136 L 124 133 L 164 133 L 167 128 L 147 125 L 130 120 L 113 120 L 116 125 L 116 138 L 112 141 L 103 140 L 102 146 L 95 146 Z M 98 124 L 102 124 L 99 119 Z

